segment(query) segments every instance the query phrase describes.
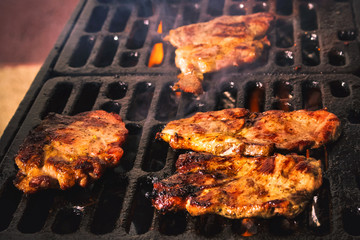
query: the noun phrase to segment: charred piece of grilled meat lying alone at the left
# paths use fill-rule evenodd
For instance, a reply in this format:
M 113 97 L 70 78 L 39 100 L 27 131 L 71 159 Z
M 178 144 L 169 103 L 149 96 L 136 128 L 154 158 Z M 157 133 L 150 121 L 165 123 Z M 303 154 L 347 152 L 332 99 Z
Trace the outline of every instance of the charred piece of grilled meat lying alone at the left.
M 14 181 L 25 193 L 85 187 L 118 164 L 128 134 L 117 114 L 102 110 L 75 116 L 49 114 L 25 139 L 15 158 Z

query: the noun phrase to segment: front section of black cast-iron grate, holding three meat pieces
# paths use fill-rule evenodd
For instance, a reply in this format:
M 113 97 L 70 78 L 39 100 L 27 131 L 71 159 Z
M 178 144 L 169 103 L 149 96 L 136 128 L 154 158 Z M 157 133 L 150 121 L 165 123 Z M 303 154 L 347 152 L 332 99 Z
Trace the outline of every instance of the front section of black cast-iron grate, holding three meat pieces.
M 217 78 L 215 76 L 215 78 Z M 239 81 L 241 79 L 241 81 Z M 360 83 L 353 75 L 240 75 L 211 81 L 199 99 L 176 95 L 169 88 L 176 77 L 57 77 L 42 88 L 1 165 L 0 236 L 52 238 L 105 237 L 111 239 L 163 238 L 235 239 L 245 230 L 256 239 L 333 239 L 359 236 Z M 340 139 L 310 155 L 323 162 L 324 184 L 308 209 L 293 220 L 241 220 L 218 216 L 191 217 L 184 212 L 158 214 L 146 198 L 151 179 L 174 172 L 179 152 L 154 135 L 168 121 L 196 111 L 246 107 L 248 97 L 262 89 L 263 111 L 289 106 L 289 110 L 326 107 L 342 122 Z M 66 93 L 59 95 L 59 92 Z M 309 97 L 309 92 L 315 96 Z M 146 99 L 146 102 L 139 99 Z M 52 104 L 54 99 L 59 104 Z M 77 109 L 79 102 L 82 108 Z M 142 111 L 139 111 L 141 107 Z M 143 109 L 148 108 L 148 109 Z M 49 190 L 26 197 L 11 180 L 13 158 L 27 133 L 49 112 L 76 114 L 104 109 L 119 113 L 130 130 L 122 163 L 92 186 L 69 191 Z M 167 109 L 168 111 L 163 111 Z M 245 226 L 248 226 L 247 228 Z

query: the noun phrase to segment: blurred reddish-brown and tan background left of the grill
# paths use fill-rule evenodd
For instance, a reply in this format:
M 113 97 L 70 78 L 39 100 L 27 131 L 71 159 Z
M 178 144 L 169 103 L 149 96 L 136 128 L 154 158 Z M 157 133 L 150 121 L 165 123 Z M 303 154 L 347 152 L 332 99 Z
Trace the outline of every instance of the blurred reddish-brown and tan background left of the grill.
M 0 136 L 78 2 L 0 1 Z

